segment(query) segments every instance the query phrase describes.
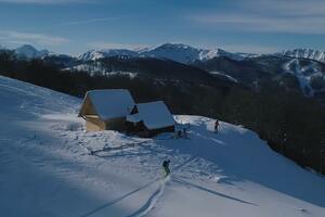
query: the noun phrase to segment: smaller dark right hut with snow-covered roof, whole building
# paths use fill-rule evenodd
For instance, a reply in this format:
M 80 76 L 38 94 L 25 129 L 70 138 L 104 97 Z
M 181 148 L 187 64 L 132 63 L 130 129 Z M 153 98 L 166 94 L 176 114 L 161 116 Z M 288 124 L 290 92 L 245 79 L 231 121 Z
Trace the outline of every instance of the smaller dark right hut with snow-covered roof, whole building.
M 162 101 L 139 103 L 127 116 L 128 132 L 153 137 L 160 132 L 174 132 L 176 122 Z

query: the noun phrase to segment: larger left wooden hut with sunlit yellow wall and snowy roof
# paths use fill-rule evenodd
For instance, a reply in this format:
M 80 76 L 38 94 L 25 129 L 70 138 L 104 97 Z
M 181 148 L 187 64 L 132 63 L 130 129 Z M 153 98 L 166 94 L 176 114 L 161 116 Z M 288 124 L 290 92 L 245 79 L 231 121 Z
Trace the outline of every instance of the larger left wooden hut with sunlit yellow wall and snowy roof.
M 90 90 L 86 93 L 79 117 L 86 119 L 87 131 L 125 130 L 126 117 L 134 106 L 128 90 Z

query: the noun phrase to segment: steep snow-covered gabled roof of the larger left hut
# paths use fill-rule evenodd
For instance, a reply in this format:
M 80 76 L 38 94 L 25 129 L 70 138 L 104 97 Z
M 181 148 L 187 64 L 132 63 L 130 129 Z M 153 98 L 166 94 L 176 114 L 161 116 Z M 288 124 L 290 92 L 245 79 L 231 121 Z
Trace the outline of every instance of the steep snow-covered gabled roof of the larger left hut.
M 128 90 L 90 90 L 86 93 L 79 116 L 99 115 L 101 119 L 126 117 L 134 106 Z

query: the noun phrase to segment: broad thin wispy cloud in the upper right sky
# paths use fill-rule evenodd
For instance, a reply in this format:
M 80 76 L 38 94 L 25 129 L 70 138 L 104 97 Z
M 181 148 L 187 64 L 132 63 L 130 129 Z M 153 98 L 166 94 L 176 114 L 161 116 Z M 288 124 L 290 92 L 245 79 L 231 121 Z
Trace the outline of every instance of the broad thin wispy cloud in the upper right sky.
M 229 11 L 197 13 L 186 18 L 234 31 L 325 34 L 325 2 L 320 0 L 242 0 Z

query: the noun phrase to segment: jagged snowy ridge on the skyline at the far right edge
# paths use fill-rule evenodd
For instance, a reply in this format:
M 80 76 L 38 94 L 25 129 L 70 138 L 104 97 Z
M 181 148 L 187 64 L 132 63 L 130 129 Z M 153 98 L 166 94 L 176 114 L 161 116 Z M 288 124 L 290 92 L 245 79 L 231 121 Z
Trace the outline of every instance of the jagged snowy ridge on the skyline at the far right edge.
M 286 50 L 280 53 L 281 55 L 291 58 L 303 58 L 325 63 L 325 52 L 313 49 L 294 49 Z

